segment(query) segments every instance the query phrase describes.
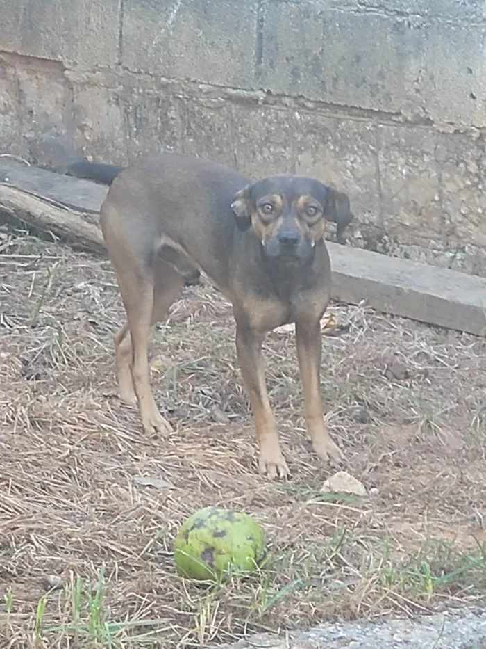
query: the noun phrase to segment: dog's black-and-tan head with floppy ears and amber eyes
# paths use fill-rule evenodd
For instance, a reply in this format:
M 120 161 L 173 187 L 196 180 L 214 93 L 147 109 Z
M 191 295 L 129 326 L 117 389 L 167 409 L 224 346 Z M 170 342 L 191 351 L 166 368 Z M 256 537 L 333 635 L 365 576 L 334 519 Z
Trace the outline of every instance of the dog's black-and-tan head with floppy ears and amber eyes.
M 267 257 L 312 259 L 326 221 L 353 218 L 346 194 L 303 176 L 272 176 L 246 186 L 231 203 L 240 230 L 260 239 Z

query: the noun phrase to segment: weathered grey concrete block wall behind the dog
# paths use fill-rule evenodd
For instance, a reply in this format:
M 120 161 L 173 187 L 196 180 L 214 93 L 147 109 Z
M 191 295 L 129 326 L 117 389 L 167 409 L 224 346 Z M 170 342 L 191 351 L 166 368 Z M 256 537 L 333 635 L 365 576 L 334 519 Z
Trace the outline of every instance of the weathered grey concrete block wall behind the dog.
M 351 197 L 352 243 L 486 275 L 483 0 L 0 0 L 0 152 L 182 150 Z

